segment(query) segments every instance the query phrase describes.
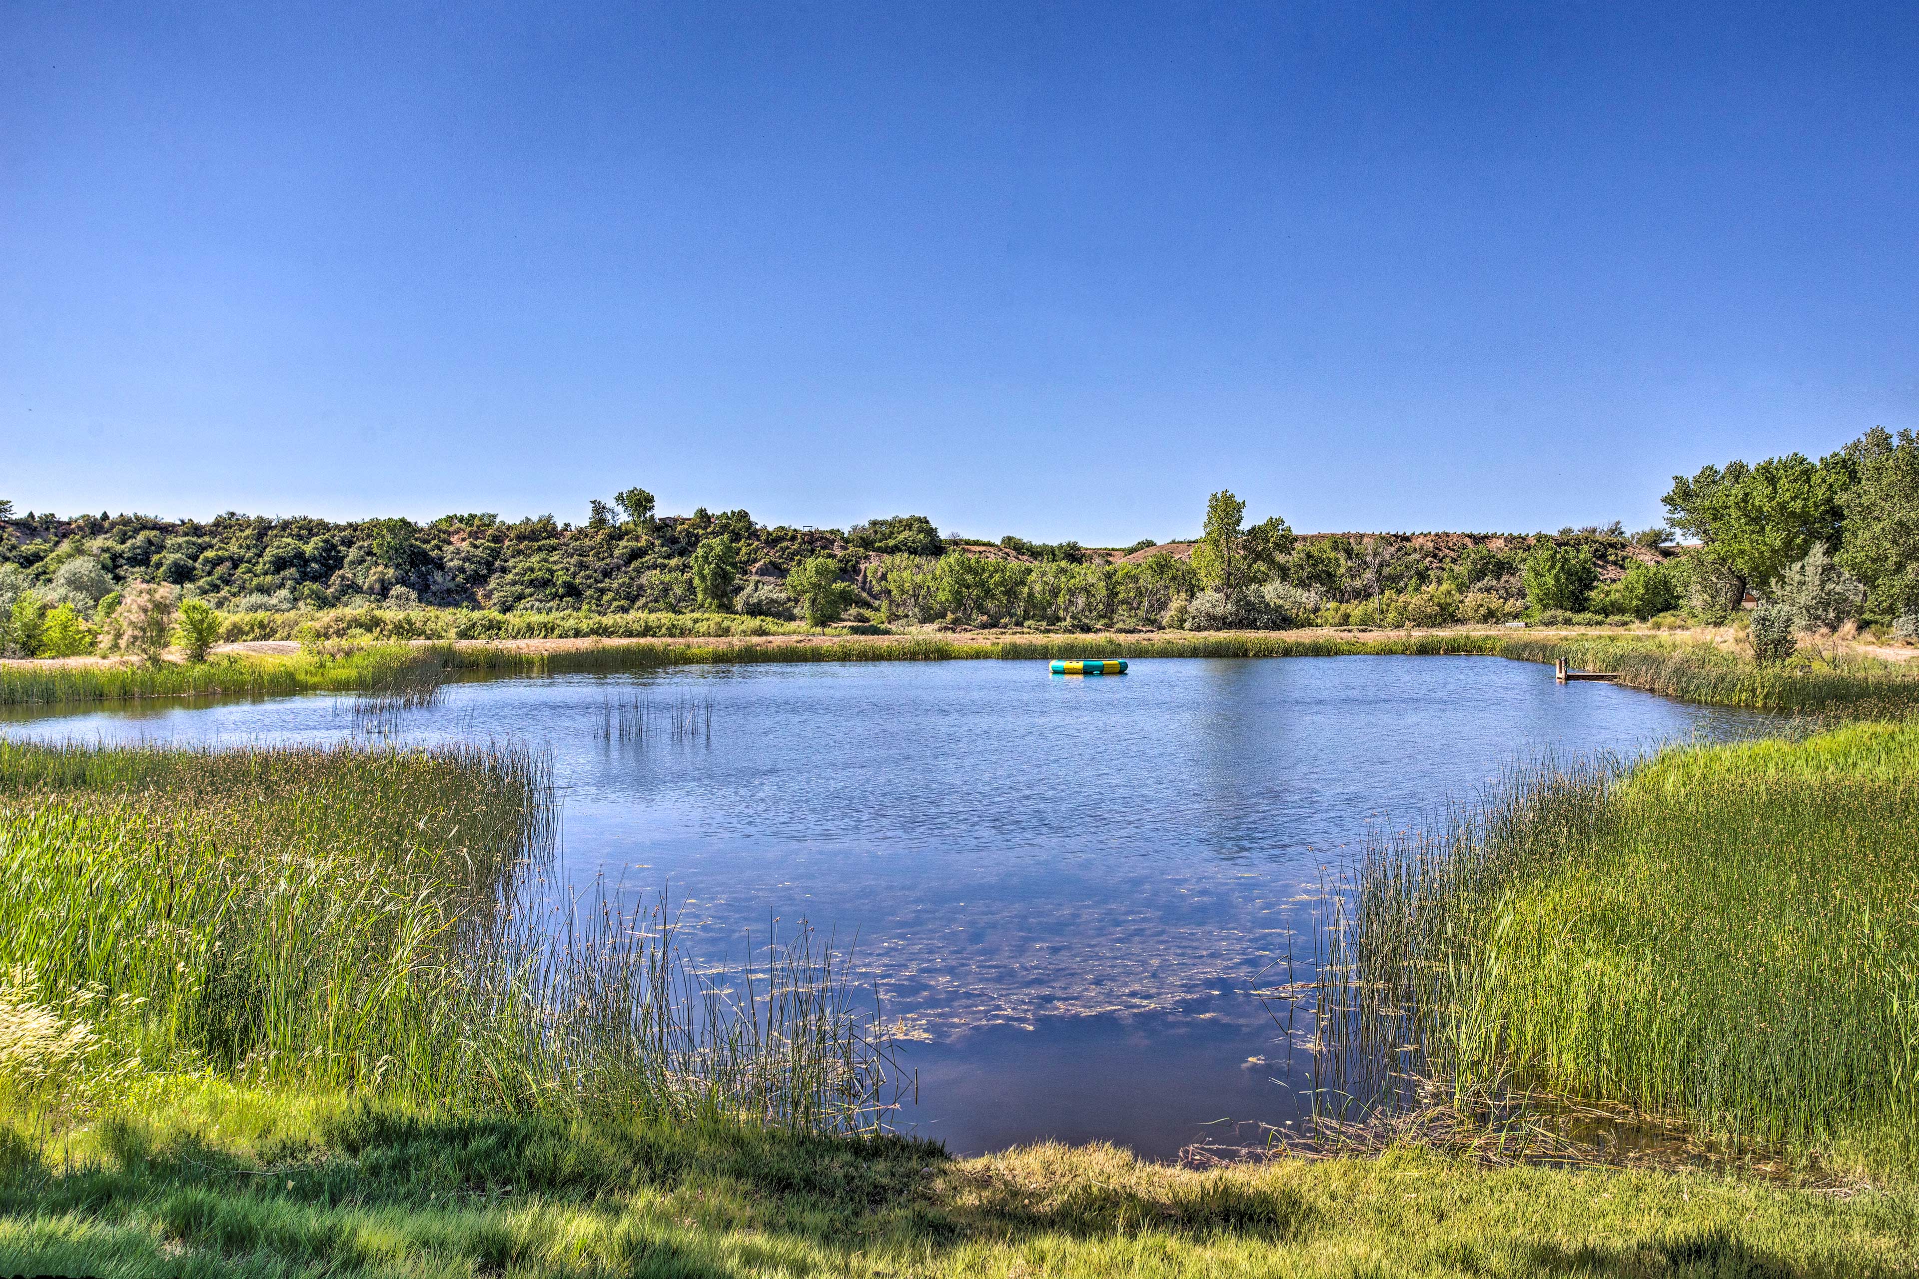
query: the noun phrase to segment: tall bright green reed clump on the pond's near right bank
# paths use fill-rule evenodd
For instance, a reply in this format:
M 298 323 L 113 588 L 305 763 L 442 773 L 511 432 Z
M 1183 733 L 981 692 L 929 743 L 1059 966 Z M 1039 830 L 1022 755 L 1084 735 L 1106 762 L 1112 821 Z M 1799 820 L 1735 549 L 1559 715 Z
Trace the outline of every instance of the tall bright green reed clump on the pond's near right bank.
M 1368 849 L 1330 934 L 1324 1034 L 1376 1095 L 1410 1070 L 1457 1101 L 1545 1089 L 1911 1170 L 1913 830 L 1913 723 L 1541 769 Z

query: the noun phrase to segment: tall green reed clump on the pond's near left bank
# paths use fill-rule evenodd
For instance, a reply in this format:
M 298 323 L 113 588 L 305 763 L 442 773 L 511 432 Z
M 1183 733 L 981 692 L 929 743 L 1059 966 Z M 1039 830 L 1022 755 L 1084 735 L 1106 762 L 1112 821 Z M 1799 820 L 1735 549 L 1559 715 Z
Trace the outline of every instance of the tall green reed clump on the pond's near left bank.
M 831 947 L 700 976 L 660 907 L 551 890 L 553 811 L 520 748 L 0 742 L 0 1020 L 54 1016 L 121 1072 L 881 1122 L 885 1034 Z

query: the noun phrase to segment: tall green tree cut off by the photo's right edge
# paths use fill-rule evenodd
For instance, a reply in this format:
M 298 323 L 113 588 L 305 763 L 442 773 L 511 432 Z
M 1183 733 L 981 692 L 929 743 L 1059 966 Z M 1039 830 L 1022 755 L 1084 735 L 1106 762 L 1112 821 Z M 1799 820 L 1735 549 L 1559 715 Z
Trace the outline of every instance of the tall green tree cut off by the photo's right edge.
M 1875 426 L 1846 445 L 1858 483 L 1846 491 L 1846 541 L 1835 556 L 1865 583 L 1879 617 L 1919 612 L 1919 435 Z

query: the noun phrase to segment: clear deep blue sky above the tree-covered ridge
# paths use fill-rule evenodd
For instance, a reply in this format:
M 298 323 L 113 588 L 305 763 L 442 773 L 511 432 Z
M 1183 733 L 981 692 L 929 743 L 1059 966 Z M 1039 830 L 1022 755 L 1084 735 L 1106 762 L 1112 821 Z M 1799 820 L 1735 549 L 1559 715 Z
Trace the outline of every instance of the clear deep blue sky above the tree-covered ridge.
M 1130 543 L 1919 426 L 1919 6 L 0 4 L 0 497 Z

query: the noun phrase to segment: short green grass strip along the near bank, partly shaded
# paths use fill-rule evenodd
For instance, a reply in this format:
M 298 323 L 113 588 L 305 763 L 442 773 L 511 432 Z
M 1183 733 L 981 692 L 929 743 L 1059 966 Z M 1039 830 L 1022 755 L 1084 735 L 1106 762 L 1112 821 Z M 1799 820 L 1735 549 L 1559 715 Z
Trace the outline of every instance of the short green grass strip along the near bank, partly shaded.
M 1422 1151 L 1213 1172 L 952 1160 L 645 1118 L 445 1116 L 200 1080 L 0 1168 L 0 1273 L 1898 1275 L 1909 1193 Z

